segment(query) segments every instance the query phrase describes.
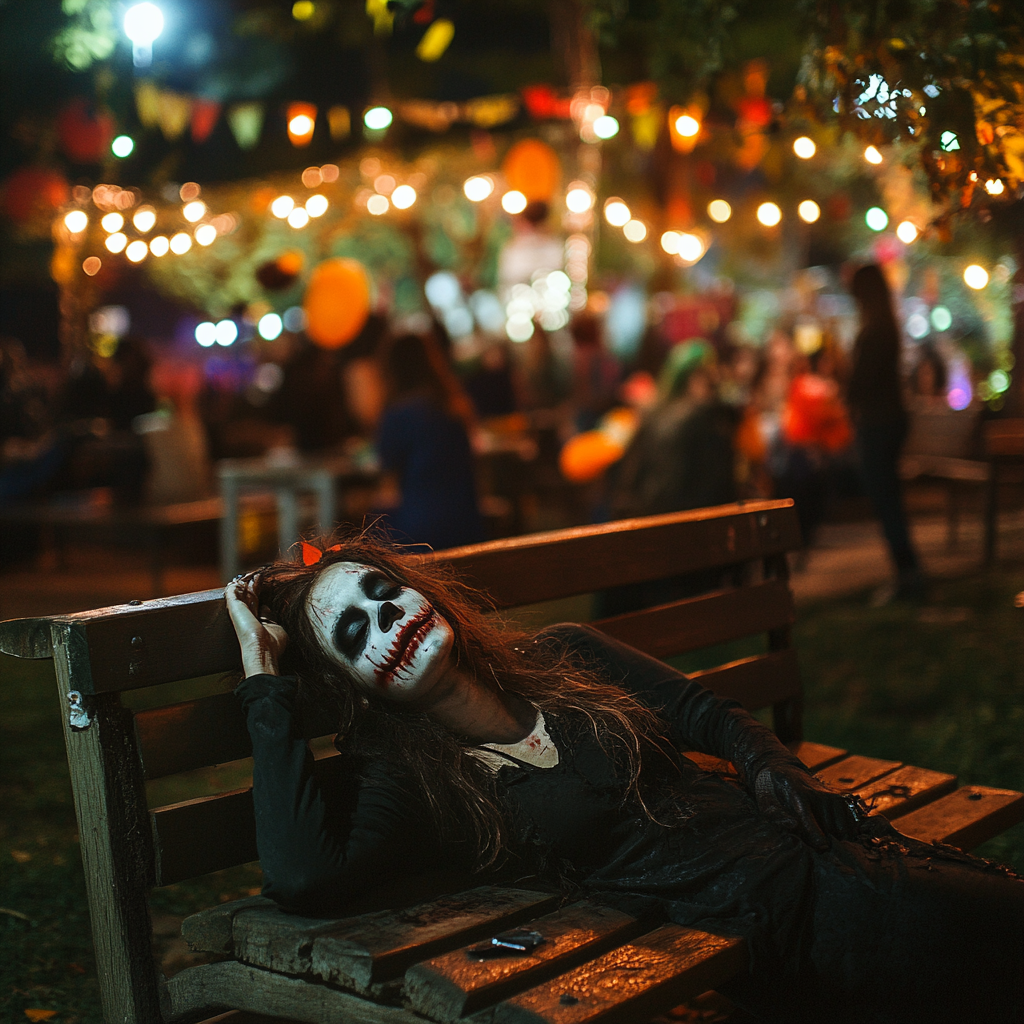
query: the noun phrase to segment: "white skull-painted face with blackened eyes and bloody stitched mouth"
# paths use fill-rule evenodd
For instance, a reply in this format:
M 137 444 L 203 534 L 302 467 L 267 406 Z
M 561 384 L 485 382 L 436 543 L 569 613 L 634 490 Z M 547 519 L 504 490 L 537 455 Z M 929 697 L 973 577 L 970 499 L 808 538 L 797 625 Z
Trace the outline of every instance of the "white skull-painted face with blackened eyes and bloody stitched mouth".
M 452 627 L 422 594 L 380 569 L 332 565 L 313 585 L 308 606 L 324 649 L 366 693 L 418 700 L 449 668 Z

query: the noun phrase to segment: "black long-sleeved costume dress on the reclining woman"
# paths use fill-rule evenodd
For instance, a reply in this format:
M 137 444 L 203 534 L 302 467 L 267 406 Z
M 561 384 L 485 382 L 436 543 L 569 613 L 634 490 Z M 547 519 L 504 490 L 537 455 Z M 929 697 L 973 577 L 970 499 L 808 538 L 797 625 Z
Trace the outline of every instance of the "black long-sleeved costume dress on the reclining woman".
M 744 781 L 772 765 L 806 771 L 734 701 L 631 647 L 580 626 L 537 642 L 567 644 L 655 708 L 679 750 L 732 760 Z M 396 871 L 459 856 L 385 766 L 353 768 L 347 785 L 321 791 L 293 734 L 294 680 L 253 676 L 238 692 L 266 895 L 335 914 Z M 559 764 L 510 760 L 497 776 L 517 862 L 575 894 L 639 900 L 678 924 L 744 936 L 750 974 L 727 991 L 764 1019 L 1021 1019 L 1024 882 L 1008 869 L 877 817 L 857 840 L 817 852 L 783 815 L 762 813 L 745 788 L 686 758 L 654 769 L 652 820 L 624 803 L 622 773 L 587 722 L 548 714 L 546 725 Z

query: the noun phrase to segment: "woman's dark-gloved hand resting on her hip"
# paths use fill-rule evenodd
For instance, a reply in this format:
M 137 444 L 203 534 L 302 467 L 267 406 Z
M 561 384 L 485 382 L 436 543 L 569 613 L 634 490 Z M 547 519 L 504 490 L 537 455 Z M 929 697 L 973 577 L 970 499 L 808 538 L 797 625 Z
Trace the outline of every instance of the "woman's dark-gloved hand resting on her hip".
M 784 816 L 815 850 L 828 848 L 828 836 L 853 839 L 863 812 L 854 798 L 829 790 L 809 772 L 790 765 L 763 768 L 755 779 L 758 807 L 768 816 Z

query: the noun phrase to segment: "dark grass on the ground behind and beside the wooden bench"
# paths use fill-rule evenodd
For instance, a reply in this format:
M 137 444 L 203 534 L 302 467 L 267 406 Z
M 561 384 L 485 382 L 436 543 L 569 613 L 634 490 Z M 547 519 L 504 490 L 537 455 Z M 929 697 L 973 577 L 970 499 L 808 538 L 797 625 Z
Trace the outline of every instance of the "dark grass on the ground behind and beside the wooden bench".
M 996 570 L 940 584 L 924 612 L 868 608 L 863 597 L 802 609 L 808 738 L 1024 787 L 1021 586 Z M 584 609 L 545 610 L 551 621 Z M 0 656 L 0 1020 L 101 1024 L 58 713 L 48 662 Z M 1024 827 L 978 852 L 1024 870 Z M 258 884 L 243 867 L 169 887 L 154 894 L 154 914 L 189 913 Z

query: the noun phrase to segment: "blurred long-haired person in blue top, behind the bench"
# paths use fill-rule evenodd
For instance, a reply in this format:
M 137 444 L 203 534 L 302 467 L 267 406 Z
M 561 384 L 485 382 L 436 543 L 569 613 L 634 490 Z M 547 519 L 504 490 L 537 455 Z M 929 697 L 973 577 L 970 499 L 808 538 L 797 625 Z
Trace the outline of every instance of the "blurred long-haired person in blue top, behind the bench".
M 400 543 L 434 550 L 484 540 L 470 436 L 472 404 L 432 338 L 403 334 L 381 355 L 377 428 L 382 511 Z

